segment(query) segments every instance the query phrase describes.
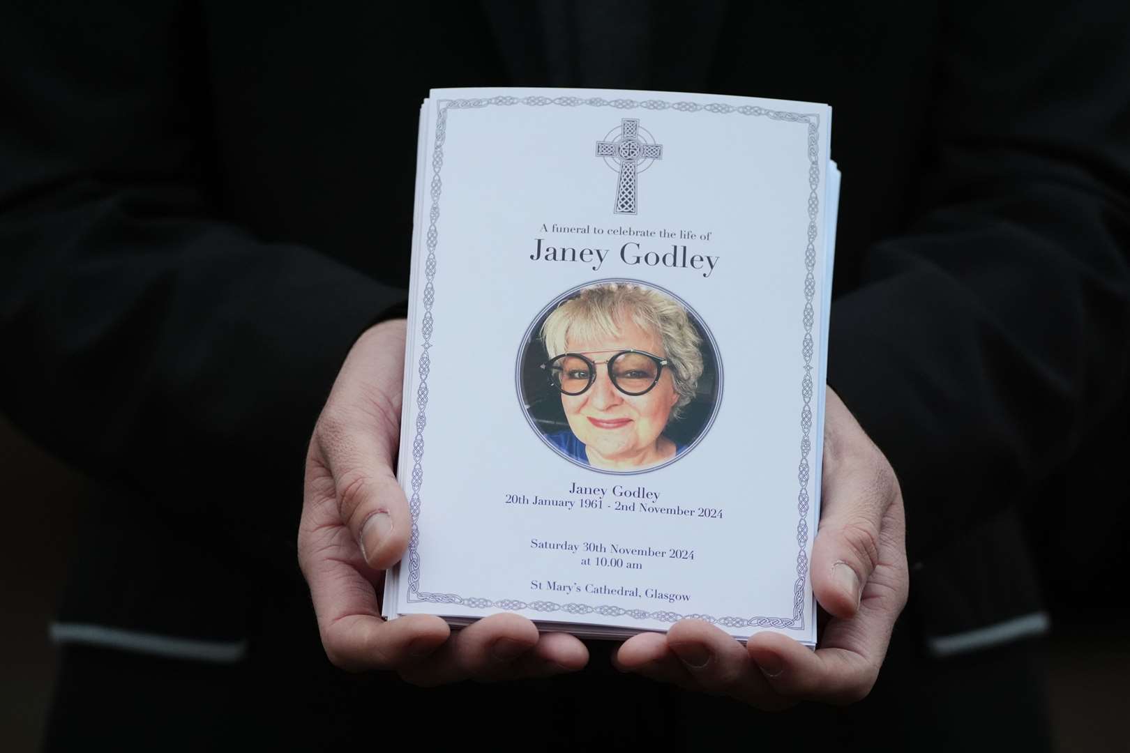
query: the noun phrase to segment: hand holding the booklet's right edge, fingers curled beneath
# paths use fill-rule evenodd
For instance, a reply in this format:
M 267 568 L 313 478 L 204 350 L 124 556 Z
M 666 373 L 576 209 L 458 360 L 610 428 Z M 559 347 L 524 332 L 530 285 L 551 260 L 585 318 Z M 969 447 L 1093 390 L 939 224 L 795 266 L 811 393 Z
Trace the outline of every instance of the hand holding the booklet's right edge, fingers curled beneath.
M 823 509 L 809 573 L 831 619 L 816 651 L 772 632 L 742 646 L 714 625 L 683 620 L 666 636 L 627 640 L 614 656 L 619 669 L 766 710 L 800 700 L 851 703 L 870 692 L 906 604 L 903 496 L 887 458 L 832 389 L 826 411 Z

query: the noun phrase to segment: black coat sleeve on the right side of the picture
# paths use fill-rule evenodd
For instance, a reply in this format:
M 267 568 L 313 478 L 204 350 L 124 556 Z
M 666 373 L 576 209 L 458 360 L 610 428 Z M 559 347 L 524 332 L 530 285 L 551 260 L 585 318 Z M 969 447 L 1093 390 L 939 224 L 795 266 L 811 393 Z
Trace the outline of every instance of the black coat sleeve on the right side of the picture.
M 832 307 L 828 382 L 901 479 L 912 558 L 1023 501 L 1130 377 L 1130 6 L 971 6 L 924 209 Z

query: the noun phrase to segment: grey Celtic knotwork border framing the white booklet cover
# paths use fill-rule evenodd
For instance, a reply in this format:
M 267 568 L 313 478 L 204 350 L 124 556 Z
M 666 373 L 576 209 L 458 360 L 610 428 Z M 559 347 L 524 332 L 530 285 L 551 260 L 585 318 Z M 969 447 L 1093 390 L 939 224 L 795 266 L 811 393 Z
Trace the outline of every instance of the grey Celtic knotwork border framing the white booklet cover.
M 435 145 L 432 152 L 432 210 L 428 213 L 428 230 L 426 236 L 427 261 L 424 263 L 424 273 L 427 282 L 424 286 L 424 317 L 420 323 L 420 334 L 423 344 L 418 364 L 419 385 L 416 388 L 416 406 L 419 410 L 416 415 L 416 436 L 412 439 L 412 496 L 409 500 L 409 509 L 412 514 L 412 532 L 408 542 L 408 601 L 409 602 L 432 602 L 437 604 L 460 604 L 471 608 L 501 608 L 510 612 L 528 610 L 532 612 L 567 612 L 570 614 L 600 614 L 602 616 L 627 615 L 635 620 L 654 620 L 658 622 L 675 623 L 685 618 L 705 620 L 713 624 L 725 628 L 786 628 L 802 630 L 805 628 L 805 584 L 808 578 L 808 510 L 809 496 L 808 482 L 810 476 L 808 456 L 812 449 L 812 357 L 815 343 L 812 340 L 812 326 L 815 324 L 815 309 L 812 299 L 816 295 L 816 217 L 819 210 L 819 199 L 817 189 L 820 182 L 820 168 L 817 159 L 819 148 L 819 115 L 815 113 L 790 113 L 779 110 L 768 110 L 754 105 L 733 106 L 724 103 L 711 103 L 699 105 L 694 102 L 667 102 L 663 99 L 605 99 L 602 97 L 546 97 L 532 95 L 527 97 L 497 96 L 471 99 L 440 99 L 436 103 L 438 117 L 435 125 Z M 515 598 L 490 599 L 480 596 L 459 596 L 458 594 L 433 594 L 419 589 L 420 559 L 419 559 L 419 528 L 417 520 L 420 510 L 420 487 L 424 483 L 424 428 L 427 426 L 425 410 L 427 409 L 427 376 L 432 360 L 428 349 L 432 347 L 432 331 L 435 319 L 432 316 L 432 306 L 435 303 L 435 249 L 438 245 L 440 234 L 436 230 L 436 222 L 440 219 L 440 193 L 443 182 L 440 172 L 443 168 L 443 145 L 447 133 L 447 112 L 450 110 L 479 110 L 492 105 L 513 106 L 527 105 L 533 107 L 545 107 L 557 105 L 560 107 L 577 107 L 588 105 L 591 107 L 615 107 L 617 110 L 675 110 L 683 113 L 709 112 L 716 115 L 729 115 L 738 113 L 755 117 L 768 117 L 776 121 L 790 123 L 802 123 L 808 128 L 808 185 L 810 193 L 808 196 L 808 245 L 805 249 L 805 339 L 801 342 L 801 356 L 805 362 L 805 376 L 801 379 L 802 405 L 800 412 L 801 441 L 800 441 L 800 465 L 798 467 L 798 481 L 800 482 L 800 493 L 797 497 L 797 509 L 800 513 L 800 522 L 797 524 L 797 580 L 793 584 L 793 604 L 791 618 L 764 618 L 764 616 L 723 616 L 714 618 L 709 614 L 678 614 L 676 612 L 645 610 L 625 610 L 619 606 L 601 605 L 589 606 L 588 604 L 557 604 L 555 602 L 536 601 L 523 602 Z

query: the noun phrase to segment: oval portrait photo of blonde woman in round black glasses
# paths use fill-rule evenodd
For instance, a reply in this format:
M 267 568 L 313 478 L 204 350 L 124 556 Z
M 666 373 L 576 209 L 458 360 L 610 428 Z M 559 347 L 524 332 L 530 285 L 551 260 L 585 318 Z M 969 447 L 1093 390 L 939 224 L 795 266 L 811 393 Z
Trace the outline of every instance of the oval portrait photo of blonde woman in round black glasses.
M 562 457 L 640 473 L 694 448 L 714 420 L 722 368 L 710 330 L 673 294 L 602 280 L 553 300 L 527 330 L 519 396 Z

